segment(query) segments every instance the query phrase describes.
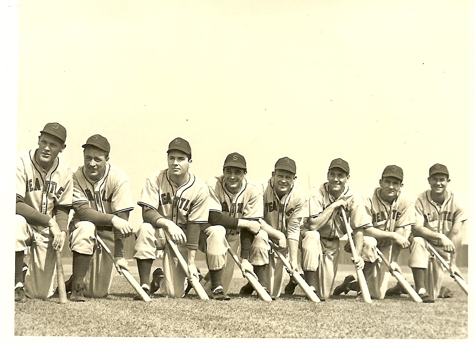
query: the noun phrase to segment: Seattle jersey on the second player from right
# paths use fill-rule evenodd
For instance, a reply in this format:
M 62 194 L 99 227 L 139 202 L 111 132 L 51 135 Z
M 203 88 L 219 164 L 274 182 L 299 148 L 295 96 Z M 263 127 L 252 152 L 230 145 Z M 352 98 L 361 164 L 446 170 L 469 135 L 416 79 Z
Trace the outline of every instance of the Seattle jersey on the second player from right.
M 400 190 L 392 204 L 383 200 L 380 194 L 381 188 L 378 187 L 372 196 L 363 199 L 375 228 L 394 232 L 397 227 L 415 223 L 414 201 L 408 192 Z

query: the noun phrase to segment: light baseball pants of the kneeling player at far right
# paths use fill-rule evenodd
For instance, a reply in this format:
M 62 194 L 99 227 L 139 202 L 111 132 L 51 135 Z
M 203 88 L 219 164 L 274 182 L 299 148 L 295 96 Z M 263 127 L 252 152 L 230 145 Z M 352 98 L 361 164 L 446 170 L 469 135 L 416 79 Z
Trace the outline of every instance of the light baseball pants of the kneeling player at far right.
M 442 246 L 431 245 L 444 260 L 449 260 L 450 254 L 445 252 Z M 444 282 L 446 270 L 437 258 L 429 252 L 427 241 L 424 238 L 413 237 L 410 249 L 411 255 L 409 257 L 409 267 L 427 270 L 424 278 L 425 291 L 432 296 L 432 299 L 437 299 L 442 283 Z

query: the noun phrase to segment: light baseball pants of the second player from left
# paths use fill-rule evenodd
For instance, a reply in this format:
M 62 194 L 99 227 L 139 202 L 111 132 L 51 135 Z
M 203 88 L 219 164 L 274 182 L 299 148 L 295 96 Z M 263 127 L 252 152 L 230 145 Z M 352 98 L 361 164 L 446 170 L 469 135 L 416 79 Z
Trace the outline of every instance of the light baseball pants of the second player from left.
M 96 226 L 90 221 L 79 221 L 70 225 L 70 249 L 81 254 L 93 255 L 84 277 L 84 295 L 101 298 L 109 295 L 115 274 L 114 261 L 96 242 Z M 97 230 L 97 234 L 114 253 L 113 231 Z

